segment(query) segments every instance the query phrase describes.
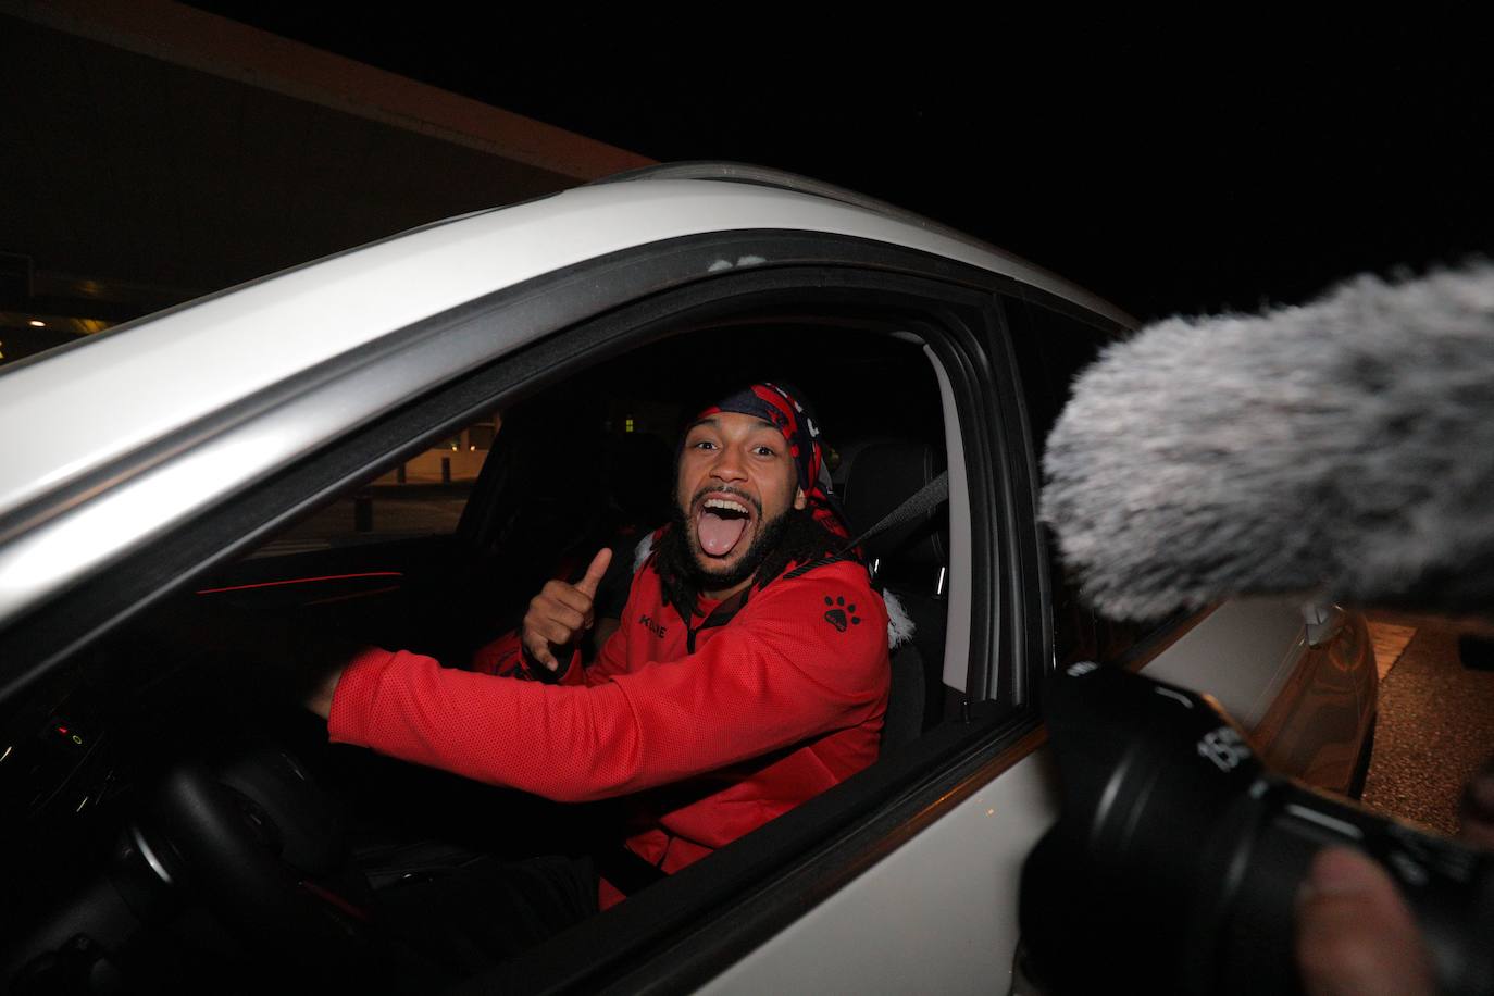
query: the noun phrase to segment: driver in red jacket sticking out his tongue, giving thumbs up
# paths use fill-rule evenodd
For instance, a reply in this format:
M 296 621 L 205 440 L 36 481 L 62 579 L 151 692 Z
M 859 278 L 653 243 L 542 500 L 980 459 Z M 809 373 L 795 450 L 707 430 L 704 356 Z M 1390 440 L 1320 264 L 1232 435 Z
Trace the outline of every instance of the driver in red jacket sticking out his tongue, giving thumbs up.
M 754 384 L 707 408 L 677 461 L 672 521 L 622 626 L 583 669 L 611 553 L 530 602 L 547 681 L 368 648 L 314 694 L 333 741 L 556 800 L 633 796 L 627 853 L 674 872 L 867 768 L 887 703 L 887 615 L 841 553 L 813 414 Z M 620 883 L 601 881 L 605 908 Z

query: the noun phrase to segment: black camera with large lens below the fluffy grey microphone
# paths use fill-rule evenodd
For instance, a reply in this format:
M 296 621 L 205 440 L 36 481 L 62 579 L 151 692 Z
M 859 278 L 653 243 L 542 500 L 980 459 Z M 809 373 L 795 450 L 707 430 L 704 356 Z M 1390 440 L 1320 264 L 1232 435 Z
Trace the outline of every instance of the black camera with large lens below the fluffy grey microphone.
M 1494 856 L 1267 771 L 1216 702 L 1119 667 L 1055 675 L 1044 715 L 1062 812 L 1020 897 L 1044 993 L 1298 992 L 1297 894 L 1333 844 L 1395 880 L 1443 992 L 1494 992 Z

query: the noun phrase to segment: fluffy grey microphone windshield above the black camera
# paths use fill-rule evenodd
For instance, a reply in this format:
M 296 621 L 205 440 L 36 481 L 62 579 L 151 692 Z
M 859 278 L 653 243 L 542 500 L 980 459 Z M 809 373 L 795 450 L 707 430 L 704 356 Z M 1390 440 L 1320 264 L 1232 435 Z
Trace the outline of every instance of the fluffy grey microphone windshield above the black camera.
M 1285 591 L 1494 611 L 1494 267 L 1143 329 L 1076 381 L 1044 472 L 1107 615 Z

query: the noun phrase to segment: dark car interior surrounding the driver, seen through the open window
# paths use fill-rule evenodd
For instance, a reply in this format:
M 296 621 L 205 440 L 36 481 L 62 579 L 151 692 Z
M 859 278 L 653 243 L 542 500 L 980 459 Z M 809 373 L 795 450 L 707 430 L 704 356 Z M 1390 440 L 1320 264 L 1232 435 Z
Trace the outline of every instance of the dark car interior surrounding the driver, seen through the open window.
M 601 547 L 626 585 L 633 548 L 668 520 L 689 417 L 778 378 L 820 415 L 853 532 L 944 470 L 944 402 L 914 336 L 837 315 L 714 321 L 495 399 L 81 647 L 45 702 L 4 717 L 0 750 L 16 744 L 24 763 L 0 762 L 0 977 L 13 992 L 247 992 L 306 944 L 335 953 L 306 971 L 341 981 L 423 989 L 480 971 L 399 921 L 402 890 L 483 856 L 593 853 L 619 839 L 616 806 L 329 745 L 282 666 L 291 644 L 338 635 L 489 669 L 484 651 L 511 639 L 544 582 L 578 578 Z M 911 621 L 886 760 L 961 697 L 944 676 L 947 509 L 864 553 Z M 223 787 L 227 808 L 208 799 Z

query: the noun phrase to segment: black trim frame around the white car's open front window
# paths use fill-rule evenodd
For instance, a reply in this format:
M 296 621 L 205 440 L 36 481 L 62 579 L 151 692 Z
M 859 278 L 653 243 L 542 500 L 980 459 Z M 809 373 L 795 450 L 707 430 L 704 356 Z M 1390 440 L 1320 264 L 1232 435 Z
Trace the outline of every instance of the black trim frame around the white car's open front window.
M 762 239 L 765 236 L 760 234 L 751 239 L 741 236 L 737 246 L 760 245 Z M 799 248 L 805 245 L 802 233 L 793 233 L 792 240 Z M 1013 472 L 1019 470 L 1016 464 L 1020 461 L 1013 460 L 1011 448 L 1022 446 L 1023 442 L 1020 432 L 1013 435 L 1020 426 L 1011 421 L 1005 408 L 1019 400 L 1011 397 L 1010 387 L 998 372 L 1002 364 L 992 361 L 1004 332 L 991 291 L 1004 278 L 911 249 L 829 236 L 820 240 L 831 249 L 822 254 L 829 263 L 822 258 L 814 264 L 743 270 L 654 294 L 620 312 L 575 323 L 539 337 L 511 355 L 453 378 L 399 411 L 329 442 L 317 454 L 199 517 L 190 527 L 173 530 L 181 542 L 172 547 L 170 555 L 161 555 L 161 551 L 152 548 L 157 555 L 145 551 L 127 557 L 85 582 L 85 588 L 108 587 L 128 575 L 134 578 L 136 590 L 140 585 L 149 587 L 146 596 L 125 609 L 96 621 L 85 636 L 96 638 L 157 600 L 184 590 L 205 572 L 252 548 L 302 509 L 345 490 L 371 470 L 393 466 L 420 451 L 450 432 L 453 424 L 541 390 L 580 366 L 601 363 L 633 348 L 639 345 L 641 336 L 648 334 L 647 330 L 657 329 L 660 323 L 680 323 L 692 308 L 772 293 L 801 297 L 831 291 L 859 296 L 902 294 L 905 300 L 922 302 L 922 308 L 914 309 L 923 315 L 916 334 L 931 345 L 946 366 L 956 406 L 962 414 L 971 415 L 968 435 L 962 429 L 973 509 L 971 584 L 977 591 L 1004 594 L 989 612 L 973 606 L 971 682 L 967 688 L 979 693 L 982 687 L 998 687 L 1001 675 L 1014 675 L 1031 660 L 1020 645 L 1007 642 L 1010 636 L 1002 636 L 1019 633 L 1023 627 L 1031 629 L 1031 609 L 1008 605 L 1023 591 L 1023 584 L 996 581 L 999 564 L 1005 561 L 1011 561 L 1005 569 L 1011 578 L 1026 578 L 1031 566 L 1029 557 L 1013 553 L 1025 547 L 1020 533 L 1031 532 L 1031 526 L 1022 526 L 1031 502 L 1013 505 L 1025 490 L 1031 490 L 1025 487 L 1022 475 Z M 719 243 L 720 240 L 714 240 L 710 251 L 720 251 Z M 971 315 L 974 320 L 970 320 Z M 1031 523 L 1031 518 L 1026 521 Z M 1002 538 L 998 530 L 1014 533 L 1016 538 Z M 85 600 L 90 596 L 105 599 L 100 591 L 84 593 Z M 108 606 L 108 599 L 105 605 Z M 999 624 L 998 614 L 1002 620 Z M 52 629 L 58 626 L 57 620 L 25 621 L 34 626 L 30 630 L 33 641 L 57 641 L 57 654 L 66 654 L 79 642 L 58 639 L 61 633 Z M 994 703 L 973 702 L 967 696 L 959 718 L 962 723 L 917 744 L 895 763 L 875 772 L 875 776 L 861 778 L 859 782 L 852 779 L 759 830 L 753 835 L 756 841 L 723 848 L 708 859 L 716 862 L 710 869 L 717 880 L 714 887 L 699 868 L 686 869 L 674 877 L 677 881 L 660 884 L 660 894 L 668 893 L 666 887 L 674 888 L 668 903 L 675 911 L 671 920 L 677 920 L 680 900 L 692 896 L 695 900 L 686 902 L 686 906 L 720 908 L 720 869 L 729 868 L 732 871 L 726 878 L 735 883 L 735 893 L 725 905 L 740 914 L 750 903 L 754 911 L 750 917 L 734 915 L 737 926 L 731 930 L 722 929 L 720 917 L 692 915 L 684 936 L 668 941 L 669 950 L 677 954 L 681 944 L 690 950 L 686 959 L 689 971 L 681 968 L 684 975 L 674 971 L 668 974 L 686 978 L 719 971 L 737 954 L 750 950 L 751 938 L 780 929 L 801 912 L 804 897 L 825 894 L 837 883 L 855 877 L 870 862 L 895 848 L 898 841 L 907 839 L 955 800 L 983 784 L 983 779 L 1035 747 L 1035 717 L 1016 696 L 1008 702 Z M 931 802 L 938 805 L 931 806 Z M 816 841 L 807 851 L 802 848 L 805 839 Z M 796 853 L 798 857 L 784 863 L 781 854 L 786 851 Z M 801 885 L 808 880 L 813 885 L 793 890 L 796 899 L 786 900 L 778 896 L 784 894 L 781 885 L 789 880 Z M 707 896 L 714 897 L 705 902 Z M 657 924 L 650 906 L 662 902 L 665 900 L 645 894 L 624 903 L 624 908 L 630 908 L 626 915 L 632 926 L 619 924 L 616 917 L 605 924 L 613 947 L 622 944 L 622 950 L 593 965 L 605 968 L 605 974 L 614 980 L 639 971 L 639 966 L 656 972 L 659 963 L 651 953 L 657 953 L 660 936 L 650 926 Z M 601 920 L 599 917 L 593 923 Z M 593 950 L 593 954 L 599 953 Z M 574 951 L 568 960 L 566 968 L 575 968 Z M 593 980 L 598 978 L 601 977 L 593 972 Z

